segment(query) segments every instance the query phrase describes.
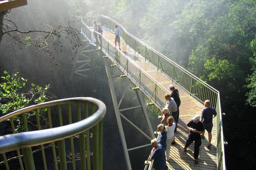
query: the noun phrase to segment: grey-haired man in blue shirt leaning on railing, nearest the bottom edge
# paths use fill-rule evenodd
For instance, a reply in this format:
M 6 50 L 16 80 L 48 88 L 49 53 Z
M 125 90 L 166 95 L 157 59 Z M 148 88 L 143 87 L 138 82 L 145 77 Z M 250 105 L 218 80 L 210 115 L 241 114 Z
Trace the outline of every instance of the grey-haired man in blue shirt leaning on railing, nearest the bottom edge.
M 165 152 L 161 144 L 157 144 L 157 140 L 151 140 L 152 147 L 155 148 L 150 157 L 150 161 L 154 160 L 153 168 L 155 170 L 164 170 L 166 166 Z

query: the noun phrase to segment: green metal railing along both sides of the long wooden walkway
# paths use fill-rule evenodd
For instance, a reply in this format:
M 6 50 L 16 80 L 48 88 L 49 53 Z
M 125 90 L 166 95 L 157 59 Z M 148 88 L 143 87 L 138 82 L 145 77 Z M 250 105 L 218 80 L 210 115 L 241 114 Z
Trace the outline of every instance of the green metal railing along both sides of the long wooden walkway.
M 218 113 L 216 122 L 218 169 L 226 169 L 219 92 L 175 62 L 171 61 L 169 58 L 128 33 L 122 25 L 111 18 L 103 15 L 96 17 L 81 17 L 81 22 L 84 24 L 82 33 L 90 43 L 96 44 L 93 31 L 90 29 L 91 27 L 88 26 L 91 25 L 93 21 L 100 22 L 102 26 L 110 31 L 112 31 L 114 25 L 118 25 L 121 30 L 122 39 L 125 41 L 126 45 L 133 48 L 134 51 L 144 57 L 151 65 L 154 65 L 155 69 L 165 73 L 165 75 L 170 77 L 173 82 L 178 83 L 190 95 L 194 96 L 202 103 L 205 100 L 211 101 L 212 106 L 216 108 Z M 123 76 L 126 75 L 134 83 L 134 88 L 140 88 L 155 105 L 159 108 L 164 106 L 164 95 L 165 93 L 168 93 L 168 91 L 150 75 L 141 70 L 135 62 L 127 57 L 122 51 L 118 50 L 110 41 L 108 41 L 108 39 L 100 34 L 98 34 L 98 36 L 102 39 L 101 49 L 105 53 L 105 56 L 111 59 L 112 65 L 117 65 L 123 72 Z

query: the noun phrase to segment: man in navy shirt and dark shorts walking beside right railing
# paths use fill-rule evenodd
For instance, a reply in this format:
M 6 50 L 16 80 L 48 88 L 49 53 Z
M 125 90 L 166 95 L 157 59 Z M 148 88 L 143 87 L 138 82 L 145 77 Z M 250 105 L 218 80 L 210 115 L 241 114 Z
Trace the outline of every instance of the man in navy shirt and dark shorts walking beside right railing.
M 206 108 L 203 109 L 201 113 L 200 121 L 204 124 L 204 132 L 201 137 L 204 139 L 205 130 L 208 132 L 208 145 L 207 148 L 211 148 L 211 130 L 213 129 L 213 117 L 216 117 L 217 112 L 214 108 L 210 107 L 211 102 L 209 100 L 204 101 L 204 106 Z

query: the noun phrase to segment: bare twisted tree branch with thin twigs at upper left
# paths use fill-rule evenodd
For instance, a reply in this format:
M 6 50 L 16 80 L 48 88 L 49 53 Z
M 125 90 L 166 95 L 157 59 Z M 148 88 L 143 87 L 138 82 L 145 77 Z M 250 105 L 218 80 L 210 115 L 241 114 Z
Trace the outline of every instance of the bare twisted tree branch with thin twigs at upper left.
M 3 18 L 2 36 L 9 35 L 13 40 L 23 44 L 25 48 L 30 45 L 38 47 L 39 51 L 43 51 L 53 58 L 53 62 L 57 65 L 53 51 L 56 48 L 62 53 L 62 47 L 68 42 L 71 52 L 77 53 L 77 47 L 82 45 L 80 32 L 68 25 L 50 26 L 47 30 L 20 30 L 18 26 L 10 19 Z M 67 39 L 67 41 L 65 41 Z M 1 39 L 0 39 L 1 41 Z M 74 51 L 75 50 L 75 51 Z

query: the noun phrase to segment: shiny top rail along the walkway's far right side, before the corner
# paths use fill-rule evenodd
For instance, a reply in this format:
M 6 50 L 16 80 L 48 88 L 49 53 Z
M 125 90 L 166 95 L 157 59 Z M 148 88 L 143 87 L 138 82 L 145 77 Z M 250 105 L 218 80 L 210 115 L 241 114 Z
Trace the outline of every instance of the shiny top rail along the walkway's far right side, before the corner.
M 171 62 L 173 65 L 175 65 L 176 67 L 178 67 L 179 69 L 183 70 L 184 72 L 186 72 L 188 75 L 192 76 L 194 79 L 197 79 L 198 81 L 200 81 L 201 83 L 207 85 L 208 87 L 210 87 L 211 89 L 213 89 L 216 93 L 218 93 L 218 90 L 216 90 L 214 87 L 210 86 L 209 84 L 207 84 L 206 82 L 204 82 L 203 80 L 199 79 L 197 76 L 193 75 L 192 73 L 190 73 L 189 71 L 187 71 L 186 69 L 184 69 L 182 66 L 178 65 L 176 62 L 172 61 L 171 59 L 167 58 L 164 54 L 158 52 L 157 50 L 155 50 L 154 48 L 148 46 L 146 43 L 144 43 L 143 41 L 141 41 L 140 39 L 138 39 L 137 37 L 131 35 L 129 32 L 126 31 L 126 29 L 118 22 L 116 22 L 115 20 L 106 17 L 104 15 L 99 15 L 103 18 L 109 19 L 112 22 L 115 22 L 117 25 L 119 25 L 120 27 L 122 27 L 122 29 L 125 31 L 125 33 L 131 37 L 133 37 L 135 40 L 139 41 L 141 44 L 143 44 L 144 46 L 146 46 L 147 48 L 149 48 L 150 50 L 154 51 L 155 53 L 161 55 L 161 57 L 163 57 L 164 59 L 166 59 L 168 62 Z M 84 17 L 87 18 L 87 17 Z

